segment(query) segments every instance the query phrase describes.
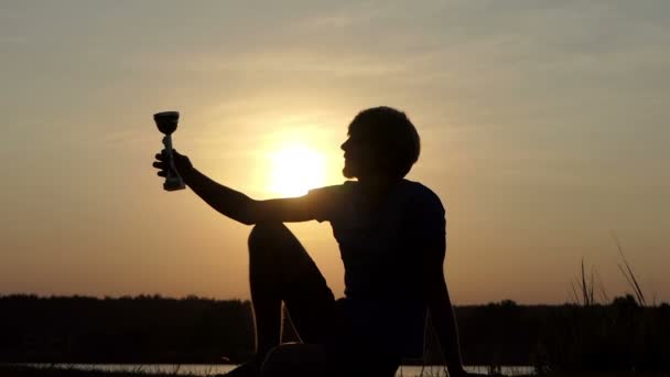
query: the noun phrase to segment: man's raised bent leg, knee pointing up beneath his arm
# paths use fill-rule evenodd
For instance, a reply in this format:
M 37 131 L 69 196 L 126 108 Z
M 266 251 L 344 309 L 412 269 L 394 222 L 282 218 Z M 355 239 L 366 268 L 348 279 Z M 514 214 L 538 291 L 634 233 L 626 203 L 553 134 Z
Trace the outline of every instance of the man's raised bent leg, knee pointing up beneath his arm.
M 303 342 L 328 341 L 336 315 L 333 292 L 283 224 L 258 224 L 251 230 L 249 280 L 259 356 L 280 343 L 282 301 Z

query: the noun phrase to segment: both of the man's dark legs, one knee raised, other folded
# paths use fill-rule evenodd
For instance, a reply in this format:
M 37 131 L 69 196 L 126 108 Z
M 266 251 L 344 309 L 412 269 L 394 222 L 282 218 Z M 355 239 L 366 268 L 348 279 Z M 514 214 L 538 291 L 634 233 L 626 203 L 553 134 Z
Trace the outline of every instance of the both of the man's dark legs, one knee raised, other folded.
M 258 224 L 249 236 L 249 279 L 255 312 L 257 359 L 266 359 L 263 376 L 346 375 L 368 370 L 392 376 L 395 360 L 356 355 L 342 343 L 349 338 L 333 292 L 295 236 L 280 223 Z M 301 341 L 281 341 L 281 303 Z M 366 368 L 365 363 L 371 363 Z M 363 368 L 363 369 L 361 369 Z

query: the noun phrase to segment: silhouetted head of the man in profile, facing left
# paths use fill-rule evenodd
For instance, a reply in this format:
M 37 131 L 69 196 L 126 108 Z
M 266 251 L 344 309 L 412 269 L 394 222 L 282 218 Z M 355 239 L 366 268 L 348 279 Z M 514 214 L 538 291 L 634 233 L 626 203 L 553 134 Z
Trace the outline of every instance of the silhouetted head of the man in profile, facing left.
M 383 175 L 402 179 L 419 159 L 421 142 L 404 112 L 390 107 L 360 111 L 349 125 L 343 174 L 346 177 Z

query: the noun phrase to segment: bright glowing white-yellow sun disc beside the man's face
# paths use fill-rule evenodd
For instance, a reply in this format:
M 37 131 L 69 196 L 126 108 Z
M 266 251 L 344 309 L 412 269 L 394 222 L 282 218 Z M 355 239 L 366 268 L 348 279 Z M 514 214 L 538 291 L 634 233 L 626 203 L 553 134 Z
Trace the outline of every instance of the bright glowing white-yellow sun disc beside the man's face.
M 275 195 L 302 196 L 325 183 L 325 158 L 302 143 L 284 144 L 270 153 L 269 188 Z

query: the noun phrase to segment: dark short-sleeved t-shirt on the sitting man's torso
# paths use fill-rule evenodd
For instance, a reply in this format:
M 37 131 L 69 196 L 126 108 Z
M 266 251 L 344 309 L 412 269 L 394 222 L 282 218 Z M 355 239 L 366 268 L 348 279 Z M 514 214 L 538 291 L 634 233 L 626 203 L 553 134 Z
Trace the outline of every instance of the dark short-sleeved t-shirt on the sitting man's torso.
M 356 181 L 311 190 L 313 218 L 327 220 L 345 267 L 343 306 L 359 334 L 404 357 L 422 354 L 425 303 L 419 252 L 444 241 L 445 211 L 421 183 L 401 180 L 375 209 L 368 209 Z

